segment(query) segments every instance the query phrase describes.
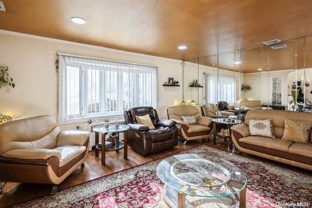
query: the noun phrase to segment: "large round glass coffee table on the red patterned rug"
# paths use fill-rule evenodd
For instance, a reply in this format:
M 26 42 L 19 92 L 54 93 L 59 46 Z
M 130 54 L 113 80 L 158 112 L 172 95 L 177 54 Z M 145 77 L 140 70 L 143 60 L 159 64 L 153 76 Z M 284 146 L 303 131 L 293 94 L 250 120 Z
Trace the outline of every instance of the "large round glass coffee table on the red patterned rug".
M 208 154 L 178 154 L 162 160 L 156 172 L 165 184 L 163 196 L 169 207 L 246 208 L 246 175 L 226 160 Z

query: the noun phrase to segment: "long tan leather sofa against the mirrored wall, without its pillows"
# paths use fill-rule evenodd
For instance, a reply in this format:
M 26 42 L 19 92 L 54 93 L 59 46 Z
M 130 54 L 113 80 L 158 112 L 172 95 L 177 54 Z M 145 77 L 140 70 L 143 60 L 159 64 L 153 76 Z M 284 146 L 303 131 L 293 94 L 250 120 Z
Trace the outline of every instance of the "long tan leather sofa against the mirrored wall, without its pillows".
M 249 120 L 273 119 L 273 134 L 275 138 L 263 136 L 251 136 L 249 132 Z M 254 154 L 267 159 L 286 163 L 292 166 L 312 170 L 312 144 L 297 143 L 282 140 L 285 120 L 312 122 L 312 113 L 292 111 L 263 111 L 251 110 L 246 114 L 245 123 L 231 127 L 232 140 L 235 147 L 242 152 Z M 296 134 L 296 132 L 293 132 Z M 310 140 L 310 142 L 312 142 Z

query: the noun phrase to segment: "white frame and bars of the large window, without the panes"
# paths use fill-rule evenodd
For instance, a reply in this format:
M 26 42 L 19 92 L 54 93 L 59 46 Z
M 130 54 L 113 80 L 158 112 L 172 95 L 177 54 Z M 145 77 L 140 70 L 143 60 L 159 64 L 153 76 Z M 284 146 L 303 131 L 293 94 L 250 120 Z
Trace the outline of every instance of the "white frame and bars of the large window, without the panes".
M 145 75 L 150 75 L 152 78 L 151 83 L 144 83 L 144 87 L 147 86 L 149 89 L 152 91 L 151 99 L 148 101 L 148 105 L 156 108 L 157 104 L 157 67 L 155 66 L 147 66 L 147 65 L 140 65 L 140 64 L 134 64 L 134 63 L 122 63 L 122 62 L 115 62 L 115 61 L 107 61 L 107 60 L 102 60 L 102 59 L 97 59 L 99 61 L 107 61 L 112 64 L 121 64 L 123 67 L 124 66 L 129 66 L 129 69 L 124 69 L 122 67 L 116 69 L 117 71 L 117 111 L 112 112 L 110 111 L 107 113 L 105 109 L 105 103 L 106 103 L 106 98 L 104 97 L 106 90 L 105 90 L 105 72 L 107 69 L 105 67 L 101 67 L 101 70 L 99 70 L 99 112 L 100 113 L 87 113 L 87 68 L 83 68 L 82 65 L 77 64 L 79 66 L 79 71 L 80 71 L 80 113 L 79 116 L 77 117 L 67 117 L 66 116 L 66 63 L 63 60 L 62 56 L 67 56 L 67 57 L 77 57 L 77 58 L 86 58 L 86 59 L 95 59 L 95 58 L 90 58 L 90 57 L 79 57 L 79 56 L 74 56 L 74 55 L 67 55 L 67 54 L 60 54 L 58 53 L 59 56 L 59 72 L 58 72 L 58 123 L 59 124 L 67 124 L 67 123 L 78 123 L 78 122 L 85 122 L 88 121 L 90 118 L 93 121 L 96 120 L 112 120 L 112 119 L 118 119 L 118 120 L 123 120 L 123 102 L 122 102 L 122 97 L 123 97 L 123 86 L 122 86 L 122 80 L 123 80 L 123 72 L 129 72 L 129 74 L 134 74 L 134 79 L 135 79 L 135 86 L 134 86 L 134 91 L 133 91 L 133 96 L 135 97 L 134 99 L 134 104 L 133 106 L 136 106 L 138 103 L 141 102 L 139 99 L 139 92 L 138 90 L 140 89 L 139 85 L 141 80 L 139 75 L 142 73 L 146 73 Z M 89 63 L 89 62 L 88 62 Z M 85 65 L 87 66 L 87 64 Z M 132 67 L 132 68 L 131 68 Z M 137 67 L 141 67 L 143 70 L 140 71 L 140 69 L 137 69 Z M 131 68 L 131 70 L 130 70 Z M 149 71 L 146 72 L 144 71 L 145 68 L 148 68 Z M 108 71 L 108 70 L 107 70 Z M 115 70 L 114 70 L 115 71 Z M 115 84 L 115 83 L 114 83 Z M 142 86 L 141 86 L 142 89 Z M 145 89 L 144 89 L 145 90 Z M 131 90 L 130 90 L 131 91 Z M 128 92 L 130 92 L 128 91 Z M 106 92 L 107 93 L 107 92 Z M 146 93 L 146 92 L 144 92 Z M 81 95 L 83 94 L 83 95 Z M 129 100 L 129 99 L 128 99 Z M 132 107 L 132 106 L 130 106 Z M 82 108 L 82 109 L 81 109 Z M 84 110 L 83 110 L 84 109 Z M 106 113 L 103 113 L 106 112 Z

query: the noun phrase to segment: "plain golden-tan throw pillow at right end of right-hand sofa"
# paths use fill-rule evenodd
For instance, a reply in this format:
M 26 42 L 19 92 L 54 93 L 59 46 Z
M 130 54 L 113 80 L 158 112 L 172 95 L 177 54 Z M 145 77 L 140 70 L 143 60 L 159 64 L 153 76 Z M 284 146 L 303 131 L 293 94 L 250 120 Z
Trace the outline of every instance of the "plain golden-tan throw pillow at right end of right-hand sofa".
M 291 142 L 308 144 L 311 139 L 312 123 L 285 119 L 282 139 Z

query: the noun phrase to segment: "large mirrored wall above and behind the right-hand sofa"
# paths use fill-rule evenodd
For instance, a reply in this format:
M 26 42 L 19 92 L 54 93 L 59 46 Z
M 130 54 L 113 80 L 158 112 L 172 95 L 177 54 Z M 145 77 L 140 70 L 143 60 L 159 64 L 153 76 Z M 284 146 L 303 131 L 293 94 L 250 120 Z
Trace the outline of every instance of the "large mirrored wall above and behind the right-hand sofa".
M 312 111 L 312 38 L 184 62 L 183 96 L 198 106 L 258 100 L 276 110 Z

